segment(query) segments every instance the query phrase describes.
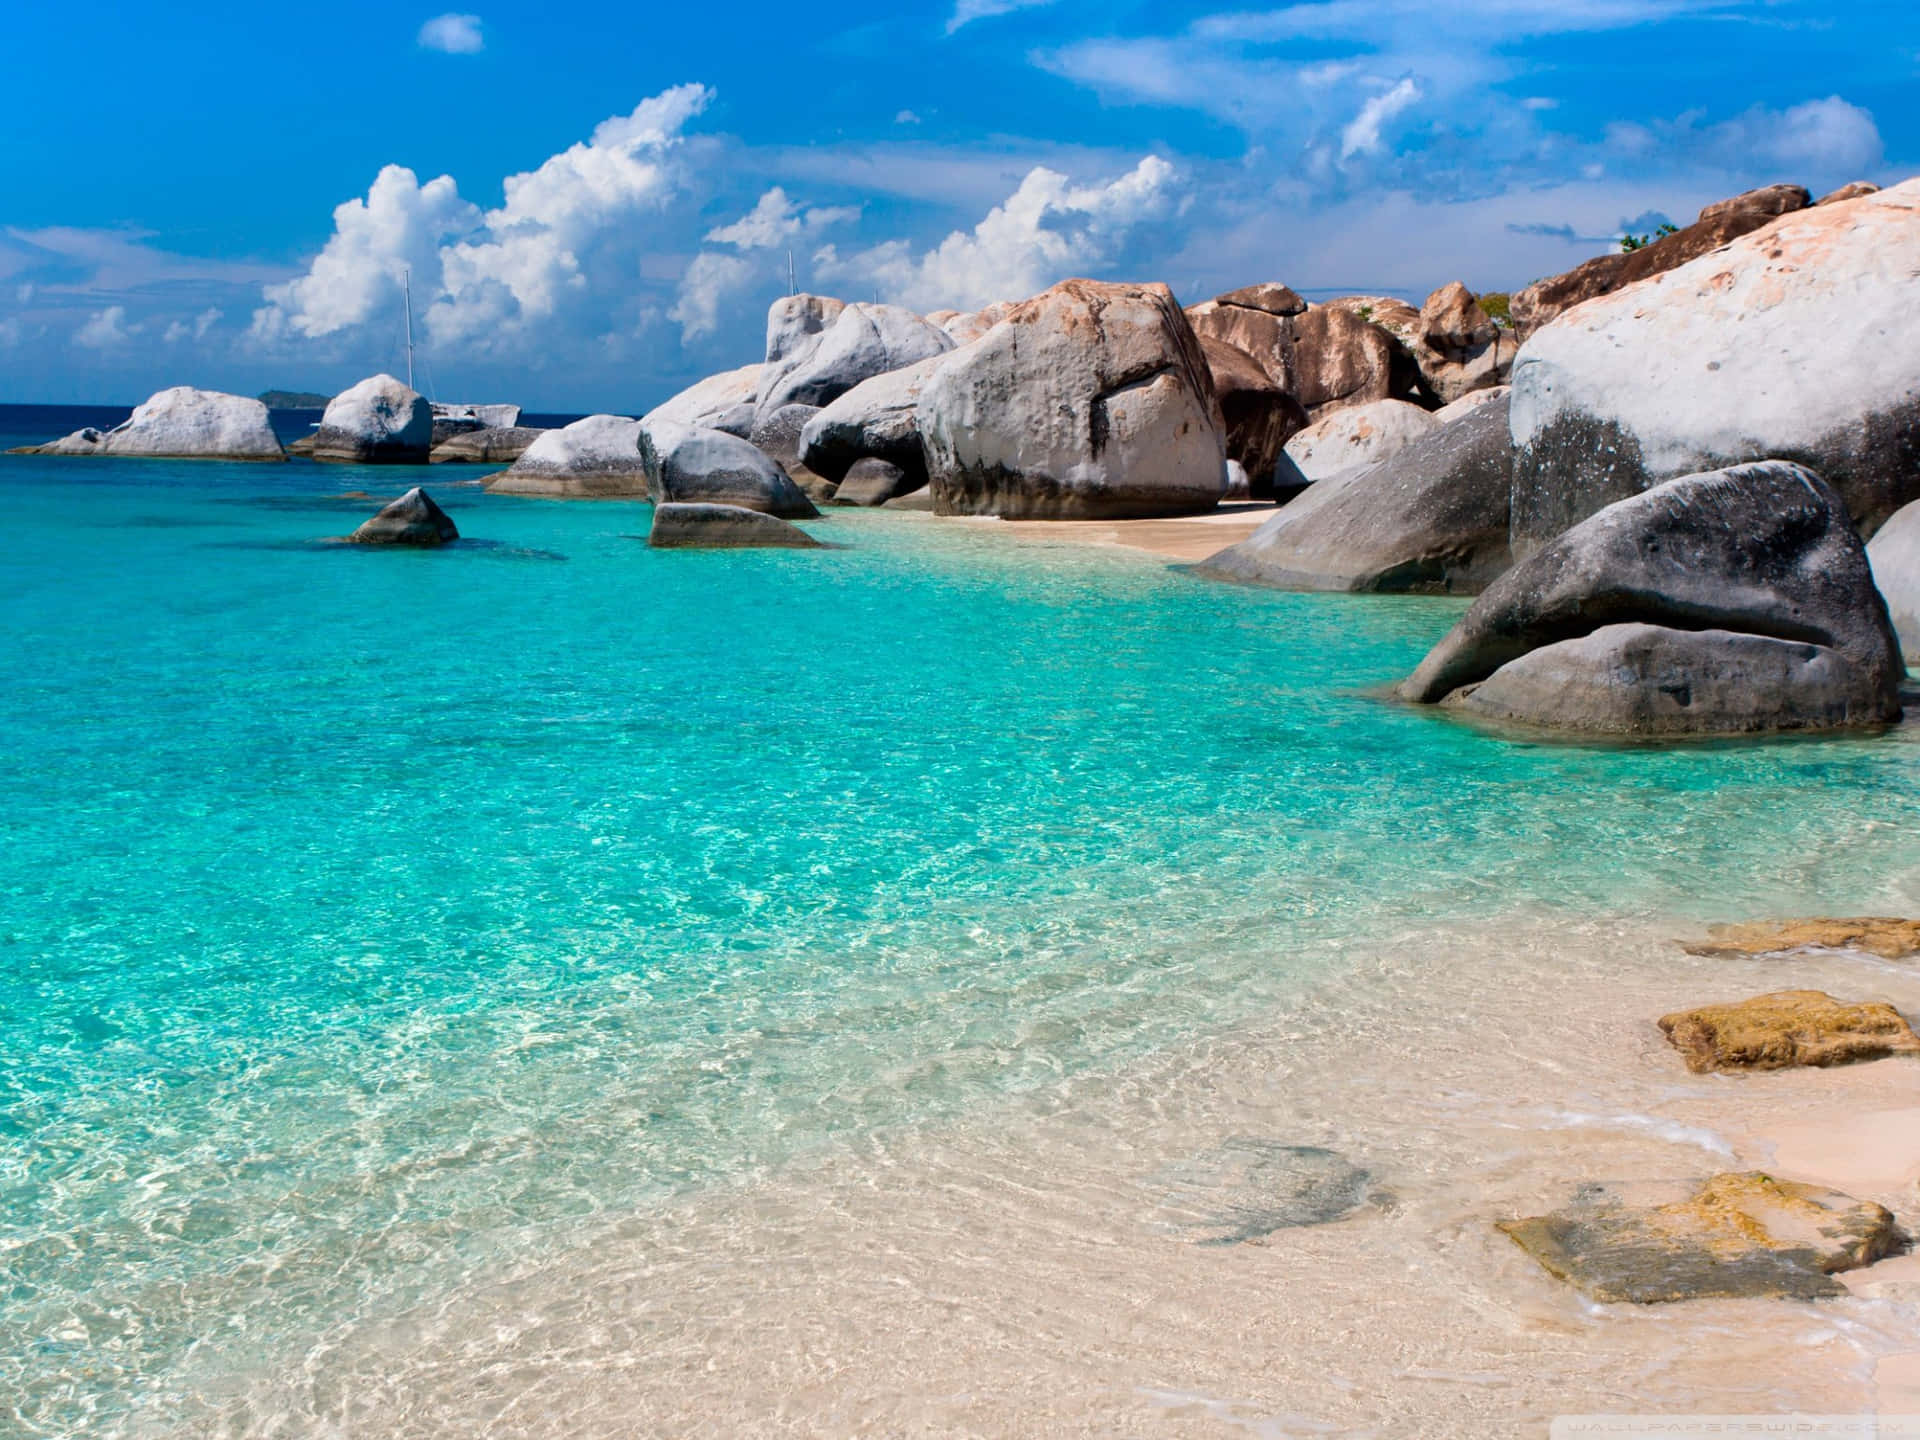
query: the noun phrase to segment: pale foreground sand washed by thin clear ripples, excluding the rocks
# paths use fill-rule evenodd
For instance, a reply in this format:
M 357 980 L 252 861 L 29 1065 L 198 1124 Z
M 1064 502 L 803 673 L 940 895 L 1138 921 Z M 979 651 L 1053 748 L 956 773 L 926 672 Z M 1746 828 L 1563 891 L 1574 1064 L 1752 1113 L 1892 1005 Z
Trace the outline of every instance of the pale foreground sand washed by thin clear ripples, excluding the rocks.
M 1380 937 L 1258 1025 L 607 1217 L 298 1367 L 227 1361 L 202 1428 L 1480 1440 L 1563 1413 L 1912 1409 L 1912 1258 L 1837 1300 L 1596 1306 L 1494 1231 L 1582 1181 L 1740 1167 L 1916 1219 L 1920 1062 L 1692 1075 L 1653 1021 L 1788 987 L 1914 1014 L 1920 966 L 1701 958 L 1676 933 L 1697 931 Z M 1196 1185 L 1204 1208 L 1244 1142 L 1332 1150 L 1365 1198 L 1204 1244 Z

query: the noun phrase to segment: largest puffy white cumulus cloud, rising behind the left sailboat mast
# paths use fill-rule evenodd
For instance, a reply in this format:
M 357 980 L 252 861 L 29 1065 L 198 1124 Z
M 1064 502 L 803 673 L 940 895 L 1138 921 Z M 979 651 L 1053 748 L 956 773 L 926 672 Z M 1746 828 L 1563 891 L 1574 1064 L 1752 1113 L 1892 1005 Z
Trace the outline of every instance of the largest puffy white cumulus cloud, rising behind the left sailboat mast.
M 305 275 L 267 286 L 259 340 L 321 338 L 399 313 L 411 271 L 415 305 L 440 344 L 511 346 L 541 326 L 570 336 L 632 334 L 643 323 L 651 223 L 689 182 L 685 125 L 707 108 L 703 84 L 664 90 L 593 134 L 505 180 L 482 211 L 453 177 L 426 184 L 399 165 L 367 200 L 334 211 L 334 234 Z

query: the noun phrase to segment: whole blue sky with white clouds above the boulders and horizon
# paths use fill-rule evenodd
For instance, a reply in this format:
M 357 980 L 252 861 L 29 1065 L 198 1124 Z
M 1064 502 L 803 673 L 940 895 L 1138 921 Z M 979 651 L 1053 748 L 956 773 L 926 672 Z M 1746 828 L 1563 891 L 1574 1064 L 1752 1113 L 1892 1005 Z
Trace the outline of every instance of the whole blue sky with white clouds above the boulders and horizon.
M 1630 223 L 1920 171 L 1910 0 L 31 6 L 0 401 L 334 390 L 637 413 L 801 284 L 1511 288 Z

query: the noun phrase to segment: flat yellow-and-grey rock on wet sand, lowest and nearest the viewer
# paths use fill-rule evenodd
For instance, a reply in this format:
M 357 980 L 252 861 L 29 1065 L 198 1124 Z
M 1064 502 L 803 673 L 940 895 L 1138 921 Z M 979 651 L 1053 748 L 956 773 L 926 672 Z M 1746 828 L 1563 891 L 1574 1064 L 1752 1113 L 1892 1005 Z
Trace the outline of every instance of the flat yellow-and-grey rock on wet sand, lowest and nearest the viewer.
M 1845 1294 L 1834 1275 L 1872 1265 L 1899 1240 L 1882 1206 L 1761 1173 L 1715 1175 L 1665 1206 L 1586 1185 L 1565 1210 L 1498 1229 L 1582 1294 L 1636 1306 Z

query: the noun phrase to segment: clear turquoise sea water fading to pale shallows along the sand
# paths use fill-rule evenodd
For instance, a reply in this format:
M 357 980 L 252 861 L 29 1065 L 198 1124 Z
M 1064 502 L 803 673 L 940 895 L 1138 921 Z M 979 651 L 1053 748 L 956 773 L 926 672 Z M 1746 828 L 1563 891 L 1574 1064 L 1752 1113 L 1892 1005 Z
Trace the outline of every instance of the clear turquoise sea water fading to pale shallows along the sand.
M 474 543 L 313 543 L 415 478 Z M 912 515 L 655 555 L 643 505 L 455 478 L 0 457 L 0 1430 L 163 1421 L 182 1367 L 1236 1023 L 1354 937 L 1920 872 L 1910 732 L 1371 699 L 1459 603 Z

